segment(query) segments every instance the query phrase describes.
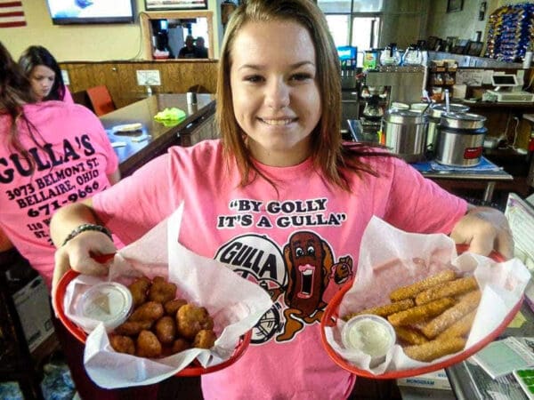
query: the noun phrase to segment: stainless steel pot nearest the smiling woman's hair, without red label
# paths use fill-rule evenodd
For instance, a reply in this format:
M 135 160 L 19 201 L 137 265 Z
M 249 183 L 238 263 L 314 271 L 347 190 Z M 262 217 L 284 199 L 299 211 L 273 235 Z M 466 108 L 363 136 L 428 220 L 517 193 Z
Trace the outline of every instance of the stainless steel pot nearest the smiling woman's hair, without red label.
M 408 163 L 425 159 L 428 117 L 413 110 L 390 109 L 384 116 L 385 146 Z

